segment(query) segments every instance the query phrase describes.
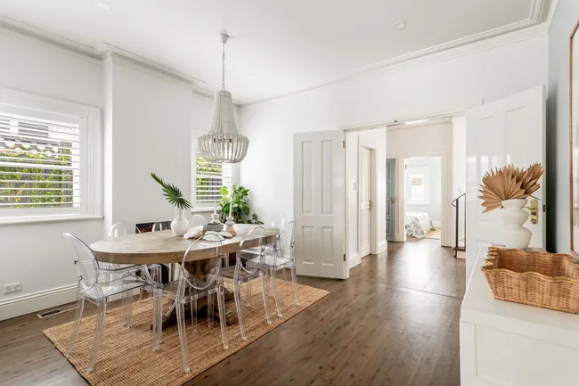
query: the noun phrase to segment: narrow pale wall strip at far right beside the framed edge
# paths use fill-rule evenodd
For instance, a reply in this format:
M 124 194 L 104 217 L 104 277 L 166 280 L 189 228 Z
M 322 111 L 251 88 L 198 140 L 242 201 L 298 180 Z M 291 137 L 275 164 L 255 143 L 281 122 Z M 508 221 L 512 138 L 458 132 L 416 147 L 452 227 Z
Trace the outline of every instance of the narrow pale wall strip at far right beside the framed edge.
M 569 37 L 579 19 L 579 2 L 559 0 L 549 30 L 547 97 L 547 249 L 571 249 L 569 211 Z

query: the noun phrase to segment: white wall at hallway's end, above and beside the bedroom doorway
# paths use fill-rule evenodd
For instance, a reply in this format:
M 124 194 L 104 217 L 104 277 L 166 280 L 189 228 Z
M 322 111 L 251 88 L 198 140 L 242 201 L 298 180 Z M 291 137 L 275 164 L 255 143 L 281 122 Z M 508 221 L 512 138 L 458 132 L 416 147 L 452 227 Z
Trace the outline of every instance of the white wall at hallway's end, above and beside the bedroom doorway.
M 396 127 L 387 131 L 387 158 L 396 158 L 396 241 L 404 241 L 404 158 L 441 157 L 441 243 L 453 244 L 453 124 L 446 121 L 431 125 Z M 423 210 L 419 210 L 423 211 Z M 444 212 L 444 213 L 443 213 Z

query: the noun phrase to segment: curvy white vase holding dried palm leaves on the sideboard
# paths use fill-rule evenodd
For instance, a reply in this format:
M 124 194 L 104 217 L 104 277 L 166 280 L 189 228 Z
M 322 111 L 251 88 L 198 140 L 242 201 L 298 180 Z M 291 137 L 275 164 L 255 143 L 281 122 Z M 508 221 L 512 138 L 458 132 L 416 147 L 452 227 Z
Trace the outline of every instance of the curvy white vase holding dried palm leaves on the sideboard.
M 523 224 L 529 213 L 523 209 L 526 205 L 526 199 L 512 199 L 502 201 L 504 209 L 501 211 L 502 223 L 505 226 L 504 244 L 507 248 L 517 250 L 526 250 L 531 242 L 531 231 L 526 229 Z

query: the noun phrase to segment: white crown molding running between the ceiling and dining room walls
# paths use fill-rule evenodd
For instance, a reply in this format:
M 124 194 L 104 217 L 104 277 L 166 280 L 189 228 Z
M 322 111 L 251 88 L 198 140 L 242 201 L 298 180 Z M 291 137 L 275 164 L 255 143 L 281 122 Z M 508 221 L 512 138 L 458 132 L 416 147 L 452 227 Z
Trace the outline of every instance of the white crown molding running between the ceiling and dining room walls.
M 315 86 L 303 88 L 290 93 L 263 95 L 245 100 L 233 101 L 236 107 L 245 107 L 257 103 L 265 103 L 282 97 L 300 94 L 324 86 L 330 86 L 341 83 L 353 78 L 361 78 L 373 72 L 407 70 L 412 67 L 424 66 L 436 62 L 442 62 L 457 58 L 463 55 L 477 53 L 488 49 L 510 45 L 534 37 L 545 35 L 549 31 L 550 22 L 552 21 L 555 8 L 559 0 L 533 0 L 526 20 L 511 23 L 501 28 L 491 29 L 469 37 L 463 37 L 441 45 L 435 45 L 413 53 L 407 53 L 388 59 L 386 61 L 376 62 L 368 66 L 358 68 L 338 78 L 320 83 Z M 38 29 L 12 18 L 0 15 L 0 28 L 8 29 L 20 35 L 31 37 L 47 44 L 54 45 L 73 53 L 80 53 L 96 60 L 104 60 L 109 57 L 117 58 L 126 66 L 133 68 L 145 69 L 148 73 L 158 72 L 162 76 L 171 79 L 176 84 L 190 87 L 193 94 L 199 94 L 205 97 L 213 97 L 214 90 L 209 90 L 200 84 L 206 84 L 205 81 L 194 78 L 183 72 L 174 70 L 158 62 L 150 61 L 135 53 L 130 53 L 120 47 L 103 43 L 102 47 L 83 45 L 76 41 L 61 37 L 44 29 Z

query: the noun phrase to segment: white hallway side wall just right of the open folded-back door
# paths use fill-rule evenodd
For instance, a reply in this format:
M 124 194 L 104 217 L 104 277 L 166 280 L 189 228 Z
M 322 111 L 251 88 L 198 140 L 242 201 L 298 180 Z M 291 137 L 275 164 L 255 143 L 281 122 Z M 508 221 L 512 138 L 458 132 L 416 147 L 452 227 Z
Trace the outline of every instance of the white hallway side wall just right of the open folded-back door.
M 374 154 L 371 168 L 371 253 L 386 250 L 386 127 L 346 132 L 346 223 L 348 267 L 360 264 L 359 255 L 359 189 L 360 149 Z M 293 213 L 292 213 L 293 214 Z

